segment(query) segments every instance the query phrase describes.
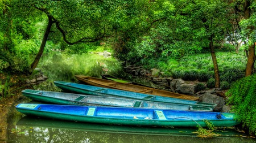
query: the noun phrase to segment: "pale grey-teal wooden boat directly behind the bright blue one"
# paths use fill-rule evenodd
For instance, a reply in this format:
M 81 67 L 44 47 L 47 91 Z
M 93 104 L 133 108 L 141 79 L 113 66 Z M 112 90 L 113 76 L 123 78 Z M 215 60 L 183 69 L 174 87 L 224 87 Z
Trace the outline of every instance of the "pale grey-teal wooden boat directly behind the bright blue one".
M 212 111 L 212 108 L 210 107 L 178 105 L 172 103 L 142 101 L 128 98 L 114 98 L 61 92 L 47 92 L 42 90 L 31 89 L 22 90 L 22 94 L 23 96 L 26 96 L 35 101 L 57 103 L 61 105 L 115 106 L 191 111 Z

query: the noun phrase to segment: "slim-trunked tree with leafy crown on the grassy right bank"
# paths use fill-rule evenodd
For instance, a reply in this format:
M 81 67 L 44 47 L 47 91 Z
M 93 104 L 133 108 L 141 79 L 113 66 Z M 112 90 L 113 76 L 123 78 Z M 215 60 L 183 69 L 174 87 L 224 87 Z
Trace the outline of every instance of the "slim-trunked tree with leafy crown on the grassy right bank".
M 216 38 L 220 39 L 218 37 L 223 38 L 222 34 L 229 25 L 228 10 L 228 2 L 225 1 L 191 1 L 183 8 L 183 12 L 194 23 L 193 34 L 198 35 L 197 32 L 200 32 L 197 38 L 208 41 L 214 66 L 215 88 L 220 88 L 220 75 L 213 42 Z

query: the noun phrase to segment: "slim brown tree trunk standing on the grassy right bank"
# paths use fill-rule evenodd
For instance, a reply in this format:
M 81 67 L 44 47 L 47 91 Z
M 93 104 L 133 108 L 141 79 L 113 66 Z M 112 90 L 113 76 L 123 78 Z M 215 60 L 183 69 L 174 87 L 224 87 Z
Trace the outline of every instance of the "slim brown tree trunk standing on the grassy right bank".
M 216 54 L 213 46 L 213 34 L 210 35 L 209 41 L 210 41 L 210 44 L 209 44 L 210 54 L 212 55 L 212 62 L 214 67 L 215 88 L 220 88 L 220 75 L 218 73 L 218 63 L 217 63 L 217 58 L 216 58 Z

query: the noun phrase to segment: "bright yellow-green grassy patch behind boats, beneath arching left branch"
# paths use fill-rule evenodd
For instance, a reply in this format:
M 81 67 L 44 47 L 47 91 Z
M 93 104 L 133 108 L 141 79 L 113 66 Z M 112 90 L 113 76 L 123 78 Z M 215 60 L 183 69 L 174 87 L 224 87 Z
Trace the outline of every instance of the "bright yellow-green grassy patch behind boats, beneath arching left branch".
M 76 81 L 74 75 L 101 77 L 108 73 L 115 75 L 121 71 L 121 63 L 114 58 L 104 58 L 97 54 L 64 54 L 52 52 L 42 57 L 38 65 L 51 80 Z M 52 68 L 55 67 L 55 68 Z

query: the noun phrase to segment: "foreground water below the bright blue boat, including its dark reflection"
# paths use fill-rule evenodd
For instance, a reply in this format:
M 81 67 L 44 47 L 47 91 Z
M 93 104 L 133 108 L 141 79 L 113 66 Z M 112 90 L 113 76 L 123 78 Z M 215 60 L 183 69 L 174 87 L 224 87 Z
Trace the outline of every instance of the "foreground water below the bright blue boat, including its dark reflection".
M 13 133 L 15 142 L 255 142 L 240 137 L 232 129 L 220 136 L 202 140 L 196 137 L 195 128 L 129 127 L 67 122 L 26 116 L 18 121 Z

